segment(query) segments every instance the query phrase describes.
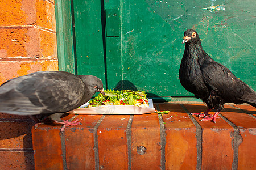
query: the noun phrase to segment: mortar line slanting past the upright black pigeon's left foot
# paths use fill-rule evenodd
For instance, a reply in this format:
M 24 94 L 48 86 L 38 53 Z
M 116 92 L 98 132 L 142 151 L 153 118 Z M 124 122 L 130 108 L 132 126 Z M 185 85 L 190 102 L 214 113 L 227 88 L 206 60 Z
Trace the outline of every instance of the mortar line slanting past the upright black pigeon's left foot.
M 203 129 L 201 128 L 200 124 L 196 121 L 196 119 L 191 116 L 191 113 L 188 109 L 183 105 L 179 104 L 181 108 L 188 114 L 188 117 L 191 119 L 193 124 L 196 126 L 196 152 L 197 152 L 197 164 L 196 169 L 202 168 L 202 141 L 203 141 Z

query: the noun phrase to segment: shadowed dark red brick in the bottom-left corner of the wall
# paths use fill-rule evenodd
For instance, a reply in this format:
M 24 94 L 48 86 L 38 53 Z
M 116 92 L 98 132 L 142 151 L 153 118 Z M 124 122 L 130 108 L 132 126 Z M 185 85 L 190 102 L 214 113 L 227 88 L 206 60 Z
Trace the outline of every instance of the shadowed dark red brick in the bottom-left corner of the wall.
M 33 152 L 0 151 L 0 169 L 33 170 Z

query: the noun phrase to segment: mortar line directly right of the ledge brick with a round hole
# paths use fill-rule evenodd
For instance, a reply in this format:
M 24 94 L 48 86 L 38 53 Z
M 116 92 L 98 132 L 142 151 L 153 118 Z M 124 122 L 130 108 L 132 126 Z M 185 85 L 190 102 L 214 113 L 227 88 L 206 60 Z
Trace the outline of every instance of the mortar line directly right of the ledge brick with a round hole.
M 160 112 L 159 104 L 156 104 L 156 110 Z M 163 124 L 162 114 L 158 114 L 161 138 L 161 169 L 166 169 L 166 128 Z

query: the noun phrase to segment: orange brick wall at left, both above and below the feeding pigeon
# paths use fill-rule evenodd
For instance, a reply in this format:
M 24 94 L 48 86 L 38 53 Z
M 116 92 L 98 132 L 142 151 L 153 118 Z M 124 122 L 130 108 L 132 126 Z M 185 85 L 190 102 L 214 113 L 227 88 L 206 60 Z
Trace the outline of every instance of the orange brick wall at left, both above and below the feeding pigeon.
M 0 0 L 0 84 L 58 70 L 54 0 Z M 26 116 L 0 113 L 0 169 L 34 169 Z

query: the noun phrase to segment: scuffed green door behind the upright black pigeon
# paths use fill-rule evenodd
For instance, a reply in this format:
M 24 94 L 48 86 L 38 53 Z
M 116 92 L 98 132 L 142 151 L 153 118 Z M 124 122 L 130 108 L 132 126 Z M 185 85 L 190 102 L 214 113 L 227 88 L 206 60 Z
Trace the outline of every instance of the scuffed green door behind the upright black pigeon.
M 73 1 L 77 74 L 92 74 L 109 89 L 150 96 L 193 96 L 180 85 L 186 29 L 204 50 L 256 90 L 256 12 L 248 1 Z

